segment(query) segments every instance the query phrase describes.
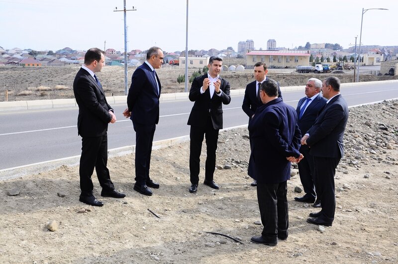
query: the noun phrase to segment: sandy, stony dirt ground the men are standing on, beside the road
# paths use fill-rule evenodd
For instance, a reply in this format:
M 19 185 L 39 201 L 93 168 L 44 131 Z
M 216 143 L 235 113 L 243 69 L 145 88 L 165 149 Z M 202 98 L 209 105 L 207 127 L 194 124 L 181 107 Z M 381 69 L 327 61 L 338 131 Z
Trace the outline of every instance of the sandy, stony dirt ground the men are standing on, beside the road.
M 188 142 L 152 152 L 151 177 L 161 187 L 151 197 L 133 191 L 134 154 L 109 159 L 111 178 L 127 196 L 100 197 L 93 176 L 94 194 L 105 202 L 100 208 L 79 202 L 78 167 L 0 181 L 0 263 L 397 263 L 397 117 L 398 101 L 350 109 L 335 221 L 324 231 L 305 221 L 317 210 L 294 201 L 303 193 L 295 192 L 301 184 L 293 169 L 288 240 L 250 243 L 262 225 L 246 175 L 248 132 L 239 128 L 220 133 L 219 190 L 199 184 L 196 194 L 188 192 Z M 8 196 L 14 187 L 20 193 Z M 50 221 L 58 224 L 54 232 Z

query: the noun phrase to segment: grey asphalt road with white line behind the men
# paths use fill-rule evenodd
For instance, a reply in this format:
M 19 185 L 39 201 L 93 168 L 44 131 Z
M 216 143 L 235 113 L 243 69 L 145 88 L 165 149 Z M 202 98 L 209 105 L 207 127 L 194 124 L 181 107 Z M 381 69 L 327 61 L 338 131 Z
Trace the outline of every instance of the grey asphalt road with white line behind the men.
M 347 103 L 358 105 L 398 97 L 398 83 L 358 84 L 342 88 Z M 284 101 L 296 107 L 303 91 L 284 92 Z M 223 105 L 224 128 L 247 124 L 242 111 L 243 96 L 233 96 Z M 187 120 L 193 102 L 163 101 L 154 140 L 189 135 Z M 108 149 L 135 145 L 132 123 L 122 115 L 126 105 L 112 105 L 117 122 L 109 124 Z M 0 170 L 80 155 L 77 134 L 78 108 L 23 110 L 0 113 Z

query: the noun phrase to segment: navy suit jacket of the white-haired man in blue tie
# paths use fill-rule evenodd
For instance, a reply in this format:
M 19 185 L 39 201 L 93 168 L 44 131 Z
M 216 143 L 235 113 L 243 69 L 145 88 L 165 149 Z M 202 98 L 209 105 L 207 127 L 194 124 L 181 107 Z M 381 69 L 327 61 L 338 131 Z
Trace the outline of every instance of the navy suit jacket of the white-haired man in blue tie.
M 299 118 L 300 106 L 305 101 L 306 98 L 307 98 L 306 96 L 302 97 L 298 101 L 296 108 L 296 113 L 298 117 L 297 124 L 298 127 L 300 128 L 300 131 L 303 133 L 308 131 L 308 129 L 315 123 L 315 119 L 318 116 L 319 111 L 323 109 L 323 106 L 327 102 L 326 98 L 323 97 L 321 93 L 318 93 L 318 96 L 316 96 L 313 99 L 313 101 L 308 105 L 307 109 L 305 109 L 305 112 L 302 114 L 301 118 Z

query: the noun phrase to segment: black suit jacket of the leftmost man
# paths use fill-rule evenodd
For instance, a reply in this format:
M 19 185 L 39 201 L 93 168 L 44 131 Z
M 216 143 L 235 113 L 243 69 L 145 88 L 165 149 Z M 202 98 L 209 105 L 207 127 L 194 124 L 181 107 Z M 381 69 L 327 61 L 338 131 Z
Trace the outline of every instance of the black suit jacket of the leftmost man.
M 82 137 L 99 137 L 106 134 L 112 119 L 102 87 L 88 71 L 80 68 L 73 82 L 73 92 L 79 105 L 78 134 Z

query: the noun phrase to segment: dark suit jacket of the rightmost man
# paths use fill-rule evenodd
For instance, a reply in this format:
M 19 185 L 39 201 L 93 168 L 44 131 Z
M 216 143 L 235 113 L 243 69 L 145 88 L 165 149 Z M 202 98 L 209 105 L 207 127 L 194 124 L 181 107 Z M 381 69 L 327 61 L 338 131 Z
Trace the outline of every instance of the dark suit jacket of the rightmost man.
M 308 130 L 309 154 L 316 157 L 344 156 L 343 135 L 348 121 L 348 106 L 341 94 L 333 97 Z

